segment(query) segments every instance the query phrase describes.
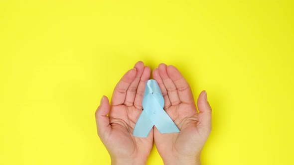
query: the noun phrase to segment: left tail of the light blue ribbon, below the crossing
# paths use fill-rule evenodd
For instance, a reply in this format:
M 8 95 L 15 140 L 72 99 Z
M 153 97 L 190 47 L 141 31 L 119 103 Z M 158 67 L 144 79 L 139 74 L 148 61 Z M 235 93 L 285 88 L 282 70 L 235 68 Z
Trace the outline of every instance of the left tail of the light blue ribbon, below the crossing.
M 146 138 L 153 127 L 153 122 L 149 119 L 147 113 L 143 110 L 134 128 L 133 135 Z

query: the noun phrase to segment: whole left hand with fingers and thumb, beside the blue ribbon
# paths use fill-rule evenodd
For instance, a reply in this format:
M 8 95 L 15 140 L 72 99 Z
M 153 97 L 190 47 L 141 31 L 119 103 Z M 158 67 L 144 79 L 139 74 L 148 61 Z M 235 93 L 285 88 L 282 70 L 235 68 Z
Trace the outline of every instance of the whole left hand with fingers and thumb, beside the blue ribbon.
M 153 146 L 153 131 L 147 138 L 133 136 L 136 121 L 143 107 L 142 101 L 150 69 L 138 62 L 116 85 L 111 105 L 107 97 L 96 111 L 98 135 L 112 159 L 141 159 L 147 157 Z M 108 115 L 108 116 L 107 116 Z

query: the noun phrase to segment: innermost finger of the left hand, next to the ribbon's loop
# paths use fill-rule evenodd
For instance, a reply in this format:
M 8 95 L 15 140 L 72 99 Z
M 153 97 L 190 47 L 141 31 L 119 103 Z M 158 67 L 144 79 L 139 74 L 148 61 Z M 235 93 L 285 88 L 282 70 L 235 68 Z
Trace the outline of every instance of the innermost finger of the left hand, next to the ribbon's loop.
M 143 97 L 144 97 L 144 92 L 145 92 L 145 87 L 146 87 L 146 82 L 147 80 L 150 79 L 150 68 L 145 67 L 143 74 L 140 79 L 140 83 L 137 88 L 137 93 L 136 93 L 136 98 L 134 101 L 134 106 L 138 109 L 143 109 L 142 107 L 142 102 L 143 102 Z

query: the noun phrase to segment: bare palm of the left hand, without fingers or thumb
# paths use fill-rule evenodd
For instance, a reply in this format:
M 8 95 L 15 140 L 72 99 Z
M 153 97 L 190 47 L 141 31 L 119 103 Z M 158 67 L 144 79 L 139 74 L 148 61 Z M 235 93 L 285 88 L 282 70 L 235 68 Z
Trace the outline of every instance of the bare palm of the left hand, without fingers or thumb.
M 137 157 L 137 154 L 149 155 L 153 144 L 153 132 L 151 131 L 147 138 L 133 136 L 133 130 L 141 112 L 142 109 L 135 106 L 118 105 L 111 108 L 112 131 L 108 141 L 115 155 L 122 157 Z

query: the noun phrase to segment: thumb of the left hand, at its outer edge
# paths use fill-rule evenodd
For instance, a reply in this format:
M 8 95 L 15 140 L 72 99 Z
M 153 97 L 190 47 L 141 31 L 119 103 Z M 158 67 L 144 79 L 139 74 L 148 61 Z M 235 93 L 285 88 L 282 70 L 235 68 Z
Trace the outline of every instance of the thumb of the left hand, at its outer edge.
M 109 118 L 107 116 L 107 114 L 109 113 L 109 110 L 110 110 L 109 100 L 106 96 L 102 96 L 100 105 L 95 112 L 97 132 L 99 136 L 111 130 L 111 126 L 109 124 Z

